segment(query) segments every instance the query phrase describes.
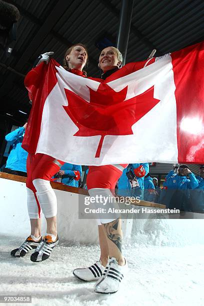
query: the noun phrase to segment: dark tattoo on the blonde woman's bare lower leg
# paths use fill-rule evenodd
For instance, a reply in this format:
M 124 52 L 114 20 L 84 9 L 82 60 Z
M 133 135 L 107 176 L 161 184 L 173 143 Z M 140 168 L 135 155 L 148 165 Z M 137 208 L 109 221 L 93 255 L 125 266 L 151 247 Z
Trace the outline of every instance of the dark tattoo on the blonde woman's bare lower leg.
M 103 224 L 107 237 L 118 247 L 119 251 L 122 252 L 122 237 L 121 234 L 117 231 L 119 218 Z

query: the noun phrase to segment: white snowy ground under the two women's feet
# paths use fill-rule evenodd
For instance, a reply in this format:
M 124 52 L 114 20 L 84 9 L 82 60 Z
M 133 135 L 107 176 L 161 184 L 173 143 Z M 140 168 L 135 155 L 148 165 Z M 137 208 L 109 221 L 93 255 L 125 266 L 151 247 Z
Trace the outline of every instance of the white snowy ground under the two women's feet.
M 31 305 L 40 306 L 204 304 L 204 245 L 126 244 L 123 250 L 128 275 L 117 293 L 104 295 L 93 292 L 94 282 L 82 282 L 72 274 L 73 268 L 92 264 L 98 258 L 98 246 L 60 242 L 50 259 L 34 263 L 28 254 L 23 258 L 10 256 L 10 250 L 21 242 L 19 238 L 0 236 L 1 295 L 32 295 Z

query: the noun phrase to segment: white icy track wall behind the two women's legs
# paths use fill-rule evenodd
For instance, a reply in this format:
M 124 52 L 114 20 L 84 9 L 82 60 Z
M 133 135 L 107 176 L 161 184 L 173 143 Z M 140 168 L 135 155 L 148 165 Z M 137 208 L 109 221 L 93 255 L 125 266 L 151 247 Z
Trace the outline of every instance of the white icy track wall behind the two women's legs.
M 57 227 L 60 239 L 97 243 L 95 220 L 78 219 L 78 197 L 84 195 L 55 189 L 54 192 L 58 202 Z M 0 211 L 0 235 L 25 237 L 29 234 L 25 183 L 0 178 Z M 122 227 L 127 242 L 131 239 L 142 245 L 204 244 L 203 219 L 130 219 L 123 220 Z M 44 218 L 42 229 L 45 232 Z

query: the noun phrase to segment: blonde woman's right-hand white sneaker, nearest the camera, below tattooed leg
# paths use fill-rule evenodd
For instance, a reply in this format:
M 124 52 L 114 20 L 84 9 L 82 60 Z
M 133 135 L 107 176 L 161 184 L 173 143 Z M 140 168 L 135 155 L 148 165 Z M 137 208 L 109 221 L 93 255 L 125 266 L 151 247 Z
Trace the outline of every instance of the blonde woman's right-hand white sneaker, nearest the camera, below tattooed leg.
M 96 293 L 115 293 L 117 292 L 120 282 L 127 272 L 127 262 L 125 265 L 118 265 L 114 257 L 109 261 L 104 273 L 98 279 L 94 286 L 94 292 Z

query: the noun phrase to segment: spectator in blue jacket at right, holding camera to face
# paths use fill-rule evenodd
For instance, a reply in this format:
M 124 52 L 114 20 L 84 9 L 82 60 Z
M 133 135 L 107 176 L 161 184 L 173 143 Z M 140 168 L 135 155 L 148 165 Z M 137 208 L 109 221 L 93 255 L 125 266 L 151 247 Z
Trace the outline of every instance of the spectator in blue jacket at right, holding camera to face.
M 162 192 L 161 203 L 164 203 L 167 208 L 190 211 L 189 190 L 197 186 L 198 181 L 195 175 L 186 164 L 181 164 L 178 167 L 178 173 L 173 173 L 163 183 L 164 192 Z

